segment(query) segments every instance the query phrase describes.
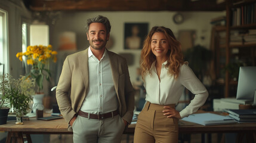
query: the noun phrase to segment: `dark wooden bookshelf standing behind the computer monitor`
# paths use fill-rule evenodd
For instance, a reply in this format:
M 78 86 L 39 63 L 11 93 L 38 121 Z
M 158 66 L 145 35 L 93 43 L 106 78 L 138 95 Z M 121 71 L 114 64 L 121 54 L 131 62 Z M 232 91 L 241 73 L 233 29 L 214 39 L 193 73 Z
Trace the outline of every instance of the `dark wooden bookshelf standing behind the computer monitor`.
M 249 5 L 249 6 L 248 6 Z M 235 15 L 234 11 L 236 9 L 242 9 L 245 7 L 251 7 L 251 11 L 254 14 L 254 20 L 251 20 L 251 23 L 243 22 L 243 24 L 238 24 L 235 26 L 233 25 L 233 17 Z M 254 8 L 252 8 L 254 7 Z M 251 13 L 251 14 L 252 14 Z M 243 18 L 245 15 L 243 16 Z M 240 17 L 241 18 L 241 17 Z M 242 23 L 242 22 L 241 22 Z M 215 26 L 213 27 L 212 32 L 214 34 L 212 35 L 218 35 L 220 32 L 224 32 L 225 34 L 225 40 L 224 43 L 220 43 L 220 38 L 218 39 L 218 36 L 214 38 L 214 58 L 215 58 L 215 78 L 216 83 L 224 85 L 224 97 L 234 97 L 236 95 L 230 95 L 230 86 L 237 86 L 238 81 L 233 80 L 230 78 L 229 71 L 225 71 L 224 74 L 221 73 L 223 71 L 224 67 L 228 66 L 230 63 L 232 63 L 235 59 L 241 60 L 240 58 L 246 58 L 249 59 L 249 64 L 246 64 L 246 66 L 256 66 L 256 43 L 247 44 L 245 41 L 243 41 L 240 44 L 232 45 L 230 43 L 230 37 L 233 36 L 231 33 L 235 30 L 256 30 L 256 1 L 247 0 L 247 1 L 232 1 L 227 0 L 226 1 L 226 26 Z M 238 53 L 232 54 L 232 50 L 236 49 Z M 245 55 L 243 55 L 245 54 Z M 248 55 L 247 55 L 248 54 Z M 256 73 L 255 73 L 256 74 Z

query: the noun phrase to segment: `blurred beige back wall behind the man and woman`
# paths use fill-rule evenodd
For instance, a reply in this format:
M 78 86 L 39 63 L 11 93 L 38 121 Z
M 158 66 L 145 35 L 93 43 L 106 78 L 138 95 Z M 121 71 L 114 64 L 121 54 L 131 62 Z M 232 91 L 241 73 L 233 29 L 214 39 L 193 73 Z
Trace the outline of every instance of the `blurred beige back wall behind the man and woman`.
M 104 15 L 109 18 L 112 25 L 110 38 L 113 40 L 113 46 L 110 51 L 121 53 L 129 52 L 135 55 L 134 65 L 129 66 L 131 81 L 134 82 L 136 77 L 136 68 L 139 67 L 140 50 L 124 49 L 124 24 L 125 23 L 149 23 L 149 30 L 153 26 L 169 27 L 178 36 L 179 30 L 195 30 L 196 38 L 195 45 L 203 45 L 209 48 L 211 39 L 211 24 L 212 18 L 220 15 L 225 15 L 223 12 L 183 12 L 184 22 L 175 24 L 172 21 L 172 16 L 177 12 L 169 11 L 115 11 L 115 12 L 69 12 L 61 14 L 60 19 L 52 28 L 52 39 L 50 43 L 54 48 L 58 46 L 58 35 L 64 31 L 76 33 L 76 44 L 79 50 L 87 48 L 88 41 L 85 33 L 85 21 L 88 18 L 97 15 Z M 51 33 L 50 32 L 50 33 Z M 205 39 L 201 39 L 201 37 Z

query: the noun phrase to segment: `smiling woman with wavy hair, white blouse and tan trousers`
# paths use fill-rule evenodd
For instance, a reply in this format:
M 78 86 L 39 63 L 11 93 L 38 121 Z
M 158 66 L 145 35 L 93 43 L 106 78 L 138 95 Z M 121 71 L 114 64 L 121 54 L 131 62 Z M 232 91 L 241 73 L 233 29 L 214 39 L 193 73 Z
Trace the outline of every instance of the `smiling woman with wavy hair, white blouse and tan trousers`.
M 208 92 L 183 61 L 180 42 L 171 29 L 152 28 L 144 41 L 140 62 L 146 104 L 138 115 L 134 143 L 178 142 L 178 119 L 195 113 L 205 103 Z M 175 105 L 184 88 L 195 98 L 179 112 Z

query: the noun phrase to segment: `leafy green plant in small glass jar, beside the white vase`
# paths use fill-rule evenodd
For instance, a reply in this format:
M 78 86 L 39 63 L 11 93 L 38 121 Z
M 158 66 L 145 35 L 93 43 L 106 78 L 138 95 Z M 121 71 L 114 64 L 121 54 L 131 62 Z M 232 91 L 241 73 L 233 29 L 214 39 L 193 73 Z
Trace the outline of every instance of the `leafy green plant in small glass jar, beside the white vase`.
M 4 80 L 4 99 L 9 102 L 10 107 L 16 114 L 16 124 L 23 125 L 22 117 L 27 114 L 32 95 L 35 94 L 35 80 L 26 76 L 14 79 L 9 74 L 4 79 L 6 79 Z

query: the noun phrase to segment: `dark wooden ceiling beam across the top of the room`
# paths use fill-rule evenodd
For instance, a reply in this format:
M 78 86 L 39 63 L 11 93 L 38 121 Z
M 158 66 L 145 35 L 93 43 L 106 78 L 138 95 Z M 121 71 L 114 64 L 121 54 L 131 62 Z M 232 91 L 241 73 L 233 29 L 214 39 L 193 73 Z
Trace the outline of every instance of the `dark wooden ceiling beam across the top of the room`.
M 26 1 L 26 0 L 23 0 Z M 215 0 L 33 0 L 33 11 L 222 11 Z

